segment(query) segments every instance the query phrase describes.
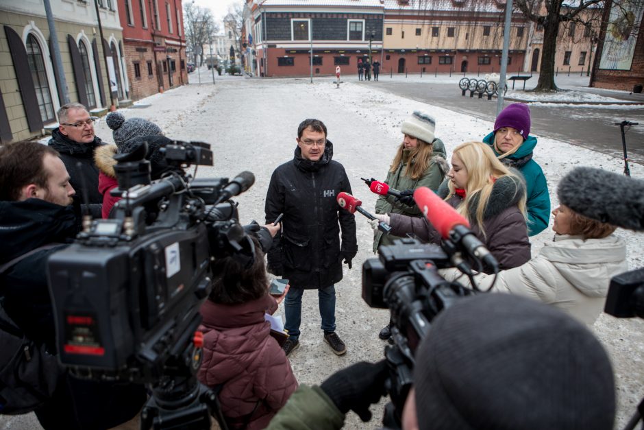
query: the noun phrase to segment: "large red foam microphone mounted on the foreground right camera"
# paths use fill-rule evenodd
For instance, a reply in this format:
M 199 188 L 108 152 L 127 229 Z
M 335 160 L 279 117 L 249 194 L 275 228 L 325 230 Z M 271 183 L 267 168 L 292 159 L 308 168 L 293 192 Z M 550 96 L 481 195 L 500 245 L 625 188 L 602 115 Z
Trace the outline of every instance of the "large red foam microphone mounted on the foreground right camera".
M 443 239 L 451 240 L 458 248 L 486 263 L 497 272 L 499 268 L 497 259 L 469 229 L 469 222 L 465 217 L 427 187 L 420 187 L 414 191 L 414 201 L 432 226 L 441 233 Z

